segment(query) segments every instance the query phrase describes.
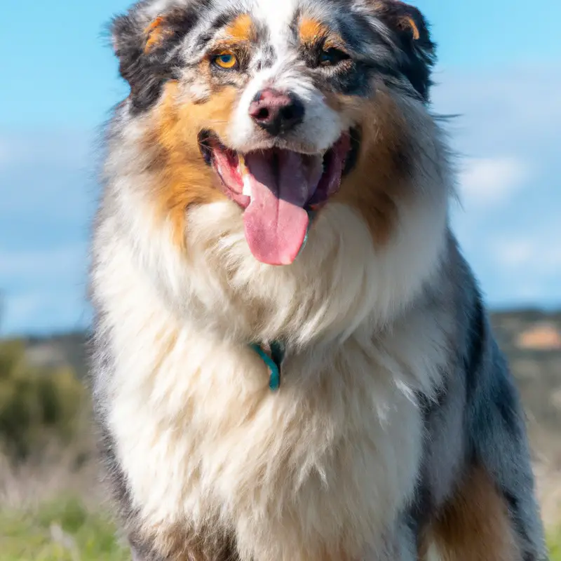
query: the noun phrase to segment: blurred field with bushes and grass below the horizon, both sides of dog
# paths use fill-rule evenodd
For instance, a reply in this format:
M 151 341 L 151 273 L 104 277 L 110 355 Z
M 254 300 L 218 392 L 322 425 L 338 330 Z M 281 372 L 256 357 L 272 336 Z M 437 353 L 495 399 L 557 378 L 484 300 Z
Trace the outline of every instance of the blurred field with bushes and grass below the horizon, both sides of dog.
M 561 561 L 561 314 L 492 318 L 522 394 Z M 83 335 L 0 342 L 0 561 L 130 561 L 98 483 Z

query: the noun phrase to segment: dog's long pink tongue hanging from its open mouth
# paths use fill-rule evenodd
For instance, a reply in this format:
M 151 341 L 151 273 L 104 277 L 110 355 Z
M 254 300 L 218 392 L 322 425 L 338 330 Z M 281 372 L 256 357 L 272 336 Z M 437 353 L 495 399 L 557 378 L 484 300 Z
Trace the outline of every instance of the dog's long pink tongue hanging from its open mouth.
M 245 157 L 250 170 L 251 203 L 243 213 L 245 238 L 256 259 L 270 265 L 292 263 L 304 244 L 308 213 L 304 205 L 313 196 L 323 173 L 321 161 L 304 162 L 296 152 L 255 152 Z

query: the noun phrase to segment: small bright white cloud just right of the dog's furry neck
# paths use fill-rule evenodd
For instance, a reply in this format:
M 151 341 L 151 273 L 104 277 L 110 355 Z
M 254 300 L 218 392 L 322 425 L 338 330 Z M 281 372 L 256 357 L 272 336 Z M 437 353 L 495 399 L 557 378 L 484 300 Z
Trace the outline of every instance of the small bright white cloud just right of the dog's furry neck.
M 459 174 L 461 196 L 469 203 L 496 205 L 523 186 L 529 169 L 517 158 L 470 158 Z

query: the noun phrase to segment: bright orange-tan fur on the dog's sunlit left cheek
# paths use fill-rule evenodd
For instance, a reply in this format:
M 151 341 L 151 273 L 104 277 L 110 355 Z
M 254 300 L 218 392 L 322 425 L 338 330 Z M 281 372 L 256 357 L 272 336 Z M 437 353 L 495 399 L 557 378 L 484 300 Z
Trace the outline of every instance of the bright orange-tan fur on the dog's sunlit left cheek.
M 177 83 L 165 88 L 156 111 L 149 142 L 159 149 L 155 191 L 158 208 L 173 228 L 173 241 L 185 245 L 185 211 L 189 205 L 223 200 L 219 179 L 206 165 L 198 147 L 198 133 L 209 128 L 224 135 L 236 97 L 234 88 L 223 88 L 204 103 L 178 97 Z M 156 166 L 154 166 L 156 167 Z

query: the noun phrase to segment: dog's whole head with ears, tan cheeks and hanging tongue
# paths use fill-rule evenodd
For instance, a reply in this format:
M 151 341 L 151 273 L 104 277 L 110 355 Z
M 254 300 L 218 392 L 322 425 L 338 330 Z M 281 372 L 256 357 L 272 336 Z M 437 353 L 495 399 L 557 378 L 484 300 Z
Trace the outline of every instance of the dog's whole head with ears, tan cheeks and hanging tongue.
M 389 235 L 411 174 L 401 100 L 428 98 L 433 43 L 394 0 L 149 0 L 113 25 L 127 119 L 149 131 L 158 208 L 229 198 L 266 264 L 290 264 L 328 201 Z

